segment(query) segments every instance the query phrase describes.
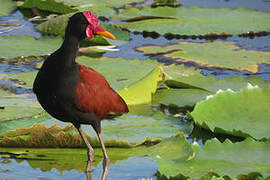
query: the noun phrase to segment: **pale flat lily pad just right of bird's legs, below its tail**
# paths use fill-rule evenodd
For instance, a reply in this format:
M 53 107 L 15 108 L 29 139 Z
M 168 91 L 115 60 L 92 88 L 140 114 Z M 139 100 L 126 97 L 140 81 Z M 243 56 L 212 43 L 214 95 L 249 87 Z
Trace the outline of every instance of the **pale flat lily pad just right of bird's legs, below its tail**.
M 145 140 L 161 140 L 178 132 L 189 135 L 192 124 L 184 123 L 179 117 L 167 116 L 161 112 L 150 114 L 128 113 L 115 121 L 103 121 L 102 132 L 105 139 L 127 140 L 139 144 Z

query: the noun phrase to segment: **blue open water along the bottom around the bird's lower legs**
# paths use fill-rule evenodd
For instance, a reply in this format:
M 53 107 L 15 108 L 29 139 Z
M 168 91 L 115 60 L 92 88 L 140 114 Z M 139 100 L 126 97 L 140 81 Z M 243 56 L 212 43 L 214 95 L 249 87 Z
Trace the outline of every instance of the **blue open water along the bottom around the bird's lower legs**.
M 102 176 L 102 169 L 102 162 L 100 162 L 97 167 L 93 167 L 91 173 L 78 172 L 75 169 L 59 172 L 55 168 L 42 171 L 38 167 L 31 167 L 26 160 L 17 162 L 14 159 L 0 157 L 0 179 L 7 178 L 8 180 L 99 180 Z M 117 161 L 111 164 L 108 179 L 134 180 L 143 177 L 146 179 L 152 177 L 153 180 L 156 180 L 153 174 L 157 169 L 156 162 L 150 158 L 131 157 L 127 160 Z

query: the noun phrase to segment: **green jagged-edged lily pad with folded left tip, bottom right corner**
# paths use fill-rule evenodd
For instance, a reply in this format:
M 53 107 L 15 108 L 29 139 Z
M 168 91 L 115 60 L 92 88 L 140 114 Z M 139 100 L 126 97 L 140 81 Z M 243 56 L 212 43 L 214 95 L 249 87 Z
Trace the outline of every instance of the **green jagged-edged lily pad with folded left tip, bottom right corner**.
M 217 139 L 204 146 L 190 145 L 182 136 L 171 137 L 147 148 L 159 164 L 159 173 L 169 179 L 199 179 L 209 172 L 235 179 L 237 175 L 259 172 L 270 175 L 270 143 L 246 139 L 242 142 L 224 143 Z

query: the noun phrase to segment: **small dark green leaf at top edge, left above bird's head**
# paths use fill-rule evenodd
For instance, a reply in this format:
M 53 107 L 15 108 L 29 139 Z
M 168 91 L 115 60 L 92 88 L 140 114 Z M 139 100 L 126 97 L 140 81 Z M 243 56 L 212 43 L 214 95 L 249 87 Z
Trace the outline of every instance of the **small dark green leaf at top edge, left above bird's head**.
M 77 11 L 64 3 L 55 2 L 54 0 L 26 0 L 20 7 L 29 9 L 37 8 L 39 10 L 60 14 L 68 14 Z

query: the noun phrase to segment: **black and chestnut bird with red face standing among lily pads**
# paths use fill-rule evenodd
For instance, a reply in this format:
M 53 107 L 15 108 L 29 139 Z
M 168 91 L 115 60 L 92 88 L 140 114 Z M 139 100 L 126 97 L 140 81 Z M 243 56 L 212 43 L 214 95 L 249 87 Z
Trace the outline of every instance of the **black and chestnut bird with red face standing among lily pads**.
M 115 116 L 128 113 L 129 109 L 103 75 L 75 60 L 79 43 L 96 35 L 115 39 L 113 34 L 98 25 L 98 19 L 91 11 L 72 15 L 66 26 L 62 45 L 45 59 L 37 73 L 33 92 L 45 111 L 60 121 L 72 123 L 78 130 L 88 151 L 86 172 L 91 171 L 94 150 L 81 125 L 93 127 L 102 147 L 102 180 L 105 180 L 110 159 L 101 134 L 101 120 L 112 113 Z

